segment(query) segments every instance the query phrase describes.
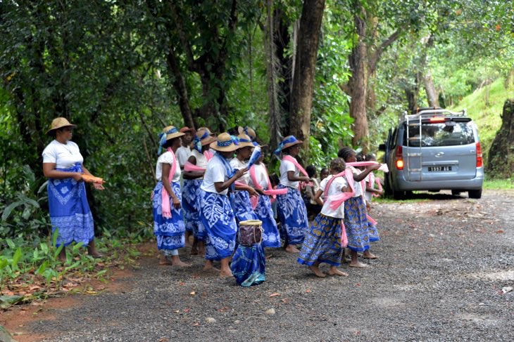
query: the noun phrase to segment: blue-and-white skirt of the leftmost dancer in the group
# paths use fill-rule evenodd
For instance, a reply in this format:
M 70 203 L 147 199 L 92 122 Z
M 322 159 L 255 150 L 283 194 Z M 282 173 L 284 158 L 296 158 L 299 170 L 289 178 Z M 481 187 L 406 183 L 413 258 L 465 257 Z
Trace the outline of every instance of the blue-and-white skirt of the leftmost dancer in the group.
M 171 183 L 171 188 L 173 192 L 175 192 L 175 196 L 182 202 L 180 182 Z M 179 249 L 185 246 L 186 243 L 182 209 L 175 209 L 170 196 L 171 218 L 163 217 L 163 190 L 164 186 L 162 181 L 159 181 L 153 189 L 153 234 L 157 237 L 157 248 L 159 250 Z

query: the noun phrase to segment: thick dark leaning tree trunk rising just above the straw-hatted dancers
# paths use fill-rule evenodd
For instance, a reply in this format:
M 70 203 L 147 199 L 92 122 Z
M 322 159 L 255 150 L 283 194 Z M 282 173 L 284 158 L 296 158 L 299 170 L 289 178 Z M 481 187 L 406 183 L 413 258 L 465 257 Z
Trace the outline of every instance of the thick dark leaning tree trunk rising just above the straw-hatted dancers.
M 298 51 L 291 93 L 291 134 L 308 147 L 311 132 L 311 106 L 321 20 L 325 0 L 305 0 L 301 13 Z

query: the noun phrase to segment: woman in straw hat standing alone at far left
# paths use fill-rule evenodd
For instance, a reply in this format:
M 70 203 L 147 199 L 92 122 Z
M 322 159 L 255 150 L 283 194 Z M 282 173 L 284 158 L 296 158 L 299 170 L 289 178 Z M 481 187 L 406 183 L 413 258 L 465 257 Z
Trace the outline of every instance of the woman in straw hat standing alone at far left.
M 84 158 L 78 145 L 71 141 L 75 127 L 67 119 L 58 117 L 46 131 L 49 136 L 54 136 L 54 140 L 43 151 L 43 174 L 49 178 L 47 188 L 50 221 L 52 230 L 58 229 L 57 246 L 82 242 L 87 245 L 90 256 L 100 258 L 101 254 L 94 246 L 93 216 L 82 181 L 83 174 L 92 174 L 84 166 Z M 101 181 L 93 183 L 93 186 L 97 190 L 104 190 Z M 66 259 L 64 247 L 59 259 Z

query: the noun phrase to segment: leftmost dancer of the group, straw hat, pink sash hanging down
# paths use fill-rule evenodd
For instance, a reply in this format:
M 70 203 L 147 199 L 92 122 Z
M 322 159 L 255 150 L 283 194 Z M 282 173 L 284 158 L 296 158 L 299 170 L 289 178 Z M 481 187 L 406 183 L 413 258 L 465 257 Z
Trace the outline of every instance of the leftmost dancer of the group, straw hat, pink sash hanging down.
M 159 134 L 159 150 L 165 152 L 157 159 L 156 179 L 153 189 L 153 234 L 161 251 L 160 265 L 189 266 L 180 261 L 178 249 L 185 245 L 184 219 L 182 217 L 182 192 L 180 190 L 180 165 L 175 152 L 180 147 L 184 133 L 175 126 L 167 126 Z M 170 260 L 171 257 L 171 260 Z

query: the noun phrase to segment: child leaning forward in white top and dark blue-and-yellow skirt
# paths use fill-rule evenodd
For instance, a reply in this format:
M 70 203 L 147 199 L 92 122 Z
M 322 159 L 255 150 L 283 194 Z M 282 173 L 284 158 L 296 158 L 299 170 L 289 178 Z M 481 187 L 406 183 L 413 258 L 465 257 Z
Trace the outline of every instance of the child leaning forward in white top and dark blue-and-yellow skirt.
M 320 263 L 330 265 L 329 275 L 348 276 L 348 273 L 337 269 L 341 263 L 341 235 L 346 234 L 341 229 L 344 205 L 341 204 L 336 209 L 332 209 L 330 200 L 330 196 L 350 192 L 342 174 L 344 168 L 344 160 L 341 158 L 336 158 L 330 163 L 331 174 L 321 181 L 320 190 L 315 195 L 316 201 L 323 207 L 306 233 L 298 258 L 299 263 L 308 265 L 318 277 L 325 277 L 319 268 Z M 325 204 L 320 199 L 323 193 L 326 197 Z

